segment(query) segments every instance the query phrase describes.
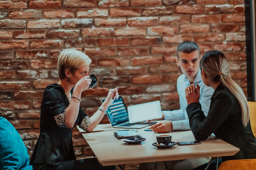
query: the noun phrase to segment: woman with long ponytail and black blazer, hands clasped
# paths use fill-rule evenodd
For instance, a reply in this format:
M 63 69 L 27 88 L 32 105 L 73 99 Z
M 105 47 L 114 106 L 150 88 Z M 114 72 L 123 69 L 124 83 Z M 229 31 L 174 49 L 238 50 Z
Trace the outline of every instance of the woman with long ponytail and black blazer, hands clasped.
M 250 126 L 249 106 L 242 89 L 230 77 L 228 62 L 222 52 L 210 51 L 200 61 L 201 78 L 215 91 L 205 116 L 198 103 L 200 86 L 188 86 L 186 99 L 189 123 L 196 140 L 206 140 L 210 134 L 238 147 L 240 151 L 229 159 L 256 157 L 256 138 Z

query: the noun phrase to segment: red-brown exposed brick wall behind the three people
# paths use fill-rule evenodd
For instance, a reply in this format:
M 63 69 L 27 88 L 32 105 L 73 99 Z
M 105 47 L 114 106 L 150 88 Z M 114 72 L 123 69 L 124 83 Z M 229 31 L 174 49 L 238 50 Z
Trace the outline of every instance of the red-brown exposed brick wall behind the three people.
M 99 80 L 82 93 L 88 115 L 115 86 L 128 105 L 160 100 L 163 110 L 179 108 L 175 57 L 184 40 L 202 54 L 223 51 L 246 93 L 244 12 L 242 0 L 1 0 L 0 115 L 31 155 L 43 89 L 58 82 L 58 53 L 69 47 L 92 59 Z M 78 158 L 92 155 L 78 130 L 74 145 Z

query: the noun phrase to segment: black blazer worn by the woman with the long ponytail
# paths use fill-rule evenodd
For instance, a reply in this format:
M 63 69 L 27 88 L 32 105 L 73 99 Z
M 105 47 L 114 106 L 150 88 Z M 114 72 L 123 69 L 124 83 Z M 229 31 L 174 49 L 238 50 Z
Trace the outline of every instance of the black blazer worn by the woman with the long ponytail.
M 256 157 L 256 138 L 252 134 L 250 123 L 242 125 L 242 111 L 235 96 L 222 83 L 210 98 L 207 117 L 201 111 L 200 103 L 187 106 L 189 124 L 196 140 L 206 140 L 210 134 L 238 147 L 240 151 L 229 159 L 250 159 Z

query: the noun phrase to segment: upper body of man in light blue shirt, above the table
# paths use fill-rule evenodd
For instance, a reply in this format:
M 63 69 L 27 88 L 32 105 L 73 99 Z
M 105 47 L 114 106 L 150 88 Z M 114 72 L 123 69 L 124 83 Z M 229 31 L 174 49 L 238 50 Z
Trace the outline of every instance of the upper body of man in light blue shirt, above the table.
M 171 121 L 153 125 L 151 129 L 154 132 L 191 129 L 188 122 L 188 114 L 186 113 L 188 103 L 185 96 L 185 89 L 190 84 L 198 84 L 201 87 L 199 103 L 201 103 L 204 114 L 208 114 L 210 97 L 213 95 L 214 90 L 203 84 L 201 70 L 199 69 L 200 58 L 200 50 L 195 42 L 185 41 L 178 45 L 176 63 L 181 68 L 181 72 L 183 72 L 177 80 L 177 91 L 181 108 L 174 111 L 163 111 L 162 119 Z

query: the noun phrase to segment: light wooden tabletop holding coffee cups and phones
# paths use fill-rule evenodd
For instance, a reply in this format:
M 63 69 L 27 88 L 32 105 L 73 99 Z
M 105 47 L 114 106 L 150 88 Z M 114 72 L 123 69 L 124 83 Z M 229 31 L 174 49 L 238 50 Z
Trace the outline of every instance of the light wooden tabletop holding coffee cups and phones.
M 110 124 L 97 125 L 93 132 L 82 132 L 82 136 L 90 145 L 100 164 L 103 166 L 117 164 L 132 164 L 142 162 L 163 162 L 179 159 L 193 159 L 201 157 L 223 157 L 236 154 L 239 149 L 219 139 L 208 139 L 201 145 L 185 145 L 159 149 L 152 145 L 156 142 L 155 132 L 138 130 L 138 133 L 146 140 L 141 144 L 127 145 L 126 142 L 114 137 L 113 132 L 119 130 L 112 128 Z M 172 141 L 184 142 L 195 140 L 192 132 L 169 132 Z

